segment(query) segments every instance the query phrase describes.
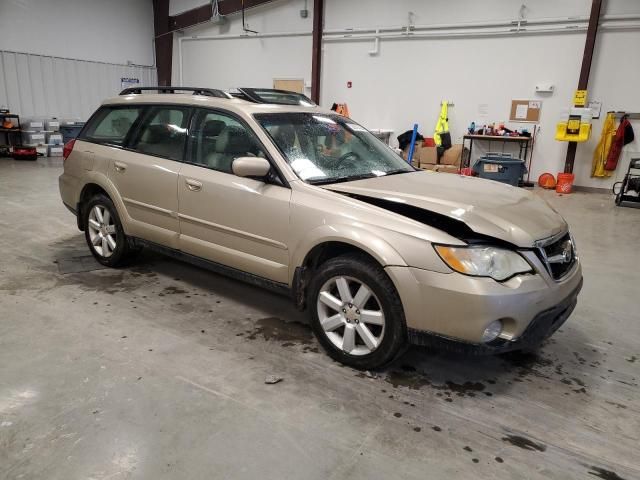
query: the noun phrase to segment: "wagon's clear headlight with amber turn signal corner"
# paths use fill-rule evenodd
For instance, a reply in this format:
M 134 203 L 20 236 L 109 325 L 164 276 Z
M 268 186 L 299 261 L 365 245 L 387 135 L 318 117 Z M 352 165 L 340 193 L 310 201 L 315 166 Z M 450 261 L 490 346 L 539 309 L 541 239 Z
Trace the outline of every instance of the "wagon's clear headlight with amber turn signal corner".
M 502 281 L 530 272 L 531 265 L 518 253 L 496 247 L 434 245 L 440 258 L 456 272 Z

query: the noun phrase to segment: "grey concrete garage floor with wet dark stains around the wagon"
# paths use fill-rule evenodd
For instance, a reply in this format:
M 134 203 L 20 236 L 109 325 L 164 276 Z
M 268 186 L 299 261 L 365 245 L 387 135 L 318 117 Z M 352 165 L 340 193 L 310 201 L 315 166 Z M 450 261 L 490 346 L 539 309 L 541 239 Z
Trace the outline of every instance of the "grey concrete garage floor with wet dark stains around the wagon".
M 148 253 L 96 269 L 60 172 L 0 160 L 0 478 L 640 478 L 640 211 L 541 192 L 585 286 L 539 356 L 367 376 L 285 298 Z

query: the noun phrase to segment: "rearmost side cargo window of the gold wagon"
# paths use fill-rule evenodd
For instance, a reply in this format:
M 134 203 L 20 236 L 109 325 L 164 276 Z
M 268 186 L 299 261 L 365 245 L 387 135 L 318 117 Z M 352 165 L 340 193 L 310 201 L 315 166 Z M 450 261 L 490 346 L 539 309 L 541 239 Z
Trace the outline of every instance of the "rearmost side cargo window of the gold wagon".
M 94 143 L 122 146 L 141 112 L 141 106 L 102 107 L 91 118 L 81 138 Z

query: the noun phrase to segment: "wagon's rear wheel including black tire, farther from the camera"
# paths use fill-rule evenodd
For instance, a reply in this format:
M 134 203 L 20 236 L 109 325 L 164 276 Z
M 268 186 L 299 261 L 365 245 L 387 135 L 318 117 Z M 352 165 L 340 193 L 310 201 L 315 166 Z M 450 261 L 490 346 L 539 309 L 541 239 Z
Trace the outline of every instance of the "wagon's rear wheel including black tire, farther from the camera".
M 111 199 L 95 195 L 84 205 L 82 214 L 85 240 L 94 258 L 107 267 L 126 265 L 136 252 Z

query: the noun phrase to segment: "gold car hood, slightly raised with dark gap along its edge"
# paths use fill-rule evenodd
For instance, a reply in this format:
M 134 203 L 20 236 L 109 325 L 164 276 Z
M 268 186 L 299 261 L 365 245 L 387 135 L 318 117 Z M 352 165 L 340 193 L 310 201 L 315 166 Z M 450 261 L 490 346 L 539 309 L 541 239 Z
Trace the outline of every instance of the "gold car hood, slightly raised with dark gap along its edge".
M 567 229 L 562 216 L 543 199 L 492 180 L 421 171 L 324 188 L 357 195 L 365 202 L 367 197 L 445 215 L 464 222 L 476 233 L 519 247 L 533 247 L 537 240 Z

